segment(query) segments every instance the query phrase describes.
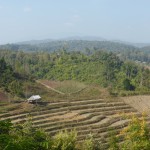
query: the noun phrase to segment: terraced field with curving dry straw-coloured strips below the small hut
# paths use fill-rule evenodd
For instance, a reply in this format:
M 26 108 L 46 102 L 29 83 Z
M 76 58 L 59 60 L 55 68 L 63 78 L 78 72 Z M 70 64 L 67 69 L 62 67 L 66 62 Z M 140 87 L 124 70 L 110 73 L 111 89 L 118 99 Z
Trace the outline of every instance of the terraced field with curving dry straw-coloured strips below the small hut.
M 45 105 L 38 104 L 34 109 L 32 109 L 33 104 L 22 102 L 21 105 L 31 107 L 30 111 L 18 111 L 17 105 L 20 104 L 14 104 L 13 109 L 0 114 L 1 120 L 11 119 L 13 123 L 22 123 L 30 115 L 34 127 L 43 128 L 52 136 L 60 130 L 76 129 L 78 142 L 82 142 L 92 134 L 95 140 L 101 141 L 105 146 L 107 146 L 110 129 L 119 133 L 128 124 L 129 120 L 123 117 L 123 113 L 132 112 L 141 116 L 136 109 L 119 99 L 59 100 L 47 102 Z M 147 120 L 149 121 L 149 117 Z

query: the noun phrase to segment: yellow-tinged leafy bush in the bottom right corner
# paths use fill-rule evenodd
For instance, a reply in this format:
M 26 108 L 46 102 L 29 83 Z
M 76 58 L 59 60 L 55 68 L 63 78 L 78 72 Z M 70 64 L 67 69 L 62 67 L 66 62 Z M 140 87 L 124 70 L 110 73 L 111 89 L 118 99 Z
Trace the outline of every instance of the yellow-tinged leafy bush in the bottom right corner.
M 149 150 L 150 131 L 146 123 L 145 115 L 142 116 L 142 119 L 134 115 L 129 117 L 129 119 L 131 119 L 131 122 L 121 131 L 121 135 L 124 136 L 121 148 L 123 150 Z

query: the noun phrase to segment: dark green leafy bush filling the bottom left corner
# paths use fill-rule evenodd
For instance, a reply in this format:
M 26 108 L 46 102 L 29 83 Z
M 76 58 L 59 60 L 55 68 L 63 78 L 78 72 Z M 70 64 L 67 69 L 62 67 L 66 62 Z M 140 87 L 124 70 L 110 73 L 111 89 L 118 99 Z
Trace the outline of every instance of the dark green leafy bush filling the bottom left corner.
M 52 141 L 40 129 L 34 129 L 31 121 L 13 126 L 11 122 L 0 121 L 0 150 L 49 150 Z

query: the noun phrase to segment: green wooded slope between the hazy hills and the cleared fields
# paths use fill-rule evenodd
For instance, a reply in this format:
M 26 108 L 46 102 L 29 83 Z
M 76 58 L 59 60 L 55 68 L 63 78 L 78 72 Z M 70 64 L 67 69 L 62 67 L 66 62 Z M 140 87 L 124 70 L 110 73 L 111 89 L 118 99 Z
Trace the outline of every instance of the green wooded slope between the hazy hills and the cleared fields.
M 11 75 L 9 72 L 13 70 L 15 75 L 19 74 L 21 77 L 30 76 L 35 79 L 59 81 L 76 80 L 108 87 L 113 92 L 148 92 L 150 89 L 149 69 L 131 61 L 123 61 L 112 52 L 101 50 L 85 54 L 60 50 L 53 53 L 29 53 L 1 50 L 0 57 L 1 64 L 3 59 L 9 64 L 8 67 L 5 65 L 6 72 L 4 72 L 9 76 Z

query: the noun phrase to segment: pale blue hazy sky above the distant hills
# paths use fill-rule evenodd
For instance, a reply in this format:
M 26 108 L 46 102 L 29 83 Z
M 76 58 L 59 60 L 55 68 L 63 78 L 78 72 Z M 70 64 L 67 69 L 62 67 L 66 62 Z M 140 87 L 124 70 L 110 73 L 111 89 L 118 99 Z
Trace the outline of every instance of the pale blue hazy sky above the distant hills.
M 150 0 L 0 0 L 0 44 L 70 36 L 150 43 Z

